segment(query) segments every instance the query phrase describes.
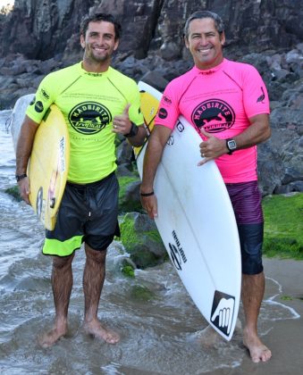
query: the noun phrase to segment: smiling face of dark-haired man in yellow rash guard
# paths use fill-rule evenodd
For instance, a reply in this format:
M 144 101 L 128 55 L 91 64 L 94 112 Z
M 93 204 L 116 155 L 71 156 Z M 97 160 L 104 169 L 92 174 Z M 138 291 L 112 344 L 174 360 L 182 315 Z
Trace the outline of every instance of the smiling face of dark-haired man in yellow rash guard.
M 86 71 L 107 71 L 111 56 L 119 45 L 115 39 L 114 24 L 107 21 L 91 21 L 85 37 L 80 36 L 84 48 L 83 68 Z

